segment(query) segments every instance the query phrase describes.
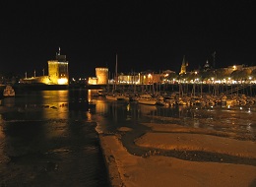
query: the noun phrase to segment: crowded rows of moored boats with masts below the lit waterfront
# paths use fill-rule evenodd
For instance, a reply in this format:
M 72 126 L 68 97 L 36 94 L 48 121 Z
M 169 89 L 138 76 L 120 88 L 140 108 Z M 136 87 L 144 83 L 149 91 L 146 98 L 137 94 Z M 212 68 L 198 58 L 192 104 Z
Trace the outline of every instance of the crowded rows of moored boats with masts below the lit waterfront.
M 100 90 L 100 92 L 104 93 L 108 99 L 117 100 L 117 94 L 113 96 L 111 89 Z M 255 92 L 256 87 L 254 85 L 176 84 L 163 85 L 154 90 L 144 85 L 133 87 L 132 90 L 119 85 L 118 95 L 120 99 L 152 105 L 243 106 L 255 104 Z

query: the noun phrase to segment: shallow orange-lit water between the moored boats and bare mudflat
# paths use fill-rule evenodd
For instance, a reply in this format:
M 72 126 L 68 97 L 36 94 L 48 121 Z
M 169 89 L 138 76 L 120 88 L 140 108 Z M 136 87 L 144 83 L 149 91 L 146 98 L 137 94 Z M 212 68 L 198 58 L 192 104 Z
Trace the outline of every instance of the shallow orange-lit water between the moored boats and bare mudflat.
M 96 121 L 104 131 L 113 131 L 121 126 L 136 128 L 140 122 L 155 122 L 234 133 L 239 136 L 249 136 L 252 139 L 256 136 L 255 105 L 165 107 L 136 102 L 109 101 L 102 96 L 91 95 L 90 99 L 96 104 L 95 116 L 101 116 Z

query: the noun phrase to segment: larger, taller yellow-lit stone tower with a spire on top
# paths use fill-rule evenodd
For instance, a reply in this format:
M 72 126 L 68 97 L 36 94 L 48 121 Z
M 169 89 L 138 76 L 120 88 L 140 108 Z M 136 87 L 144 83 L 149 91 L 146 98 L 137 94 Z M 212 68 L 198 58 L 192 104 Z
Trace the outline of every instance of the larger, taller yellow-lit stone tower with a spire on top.
M 60 54 L 60 47 L 58 53 L 56 53 L 56 59 L 48 61 L 48 76 L 49 84 L 69 84 L 68 61 L 66 60 L 66 55 Z

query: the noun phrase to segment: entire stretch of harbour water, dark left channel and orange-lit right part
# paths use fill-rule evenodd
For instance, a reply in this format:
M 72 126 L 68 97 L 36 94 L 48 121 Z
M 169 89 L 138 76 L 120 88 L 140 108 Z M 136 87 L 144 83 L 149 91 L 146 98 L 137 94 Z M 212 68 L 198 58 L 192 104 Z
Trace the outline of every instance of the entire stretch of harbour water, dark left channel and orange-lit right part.
M 109 186 L 97 133 L 116 133 L 120 127 L 136 131 L 143 122 L 256 139 L 256 105 L 166 107 L 95 94 L 86 89 L 23 91 L 1 99 L 0 185 Z

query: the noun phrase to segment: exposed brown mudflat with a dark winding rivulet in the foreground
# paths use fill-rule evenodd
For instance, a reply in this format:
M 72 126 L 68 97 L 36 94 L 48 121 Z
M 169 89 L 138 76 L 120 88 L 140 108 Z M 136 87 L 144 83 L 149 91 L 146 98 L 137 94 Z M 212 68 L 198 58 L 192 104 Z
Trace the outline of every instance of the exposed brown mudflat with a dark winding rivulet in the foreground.
M 133 129 L 99 135 L 112 186 L 256 186 L 254 140 L 175 124 L 144 125 L 151 130 L 130 143 L 148 150 L 143 156 L 124 147 L 122 136 Z M 187 153 L 188 157 L 163 156 L 161 152 Z M 191 153 L 202 158 L 189 158 Z M 210 158 L 216 154 L 218 159 L 200 156 L 208 154 Z

